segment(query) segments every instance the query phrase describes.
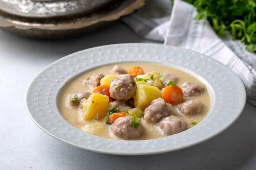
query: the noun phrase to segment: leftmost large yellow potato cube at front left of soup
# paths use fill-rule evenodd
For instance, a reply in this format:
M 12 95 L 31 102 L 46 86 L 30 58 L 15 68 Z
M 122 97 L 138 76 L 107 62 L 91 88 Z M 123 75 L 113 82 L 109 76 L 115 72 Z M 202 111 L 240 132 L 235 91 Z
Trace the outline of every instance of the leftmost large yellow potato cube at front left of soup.
M 106 95 L 93 93 L 88 99 L 87 102 L 84 101 L 82 105 L 83 108 L 83 118 L 84 120 L 92 120 L 95 117 L 99 119 L 104 118 L 108 112 L 108 101 L 109 98 Z

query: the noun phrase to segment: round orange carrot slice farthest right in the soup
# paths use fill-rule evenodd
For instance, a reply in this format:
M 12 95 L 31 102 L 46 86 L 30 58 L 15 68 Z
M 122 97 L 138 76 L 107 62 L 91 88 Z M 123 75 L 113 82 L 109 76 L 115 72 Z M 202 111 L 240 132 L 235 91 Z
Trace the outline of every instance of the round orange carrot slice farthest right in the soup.
M 183 101 L 183 91 L 177 85 L 169 85 L 163 90 L 163 99 L 171 105 L 177 105 Z

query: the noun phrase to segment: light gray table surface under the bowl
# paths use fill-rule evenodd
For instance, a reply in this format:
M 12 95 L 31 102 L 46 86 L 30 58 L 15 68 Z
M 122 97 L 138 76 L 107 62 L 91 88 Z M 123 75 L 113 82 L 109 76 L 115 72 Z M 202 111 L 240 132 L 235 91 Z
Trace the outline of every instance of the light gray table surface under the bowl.
M 256 170 L 256 108 L 220 135 L 172 153 L 112 156 L 92 153 L 52 138 L 26 112 L 32 79 L 61 57 L 99 45 L 149 42 L 122 23 L 69 40 L 31 40 L 0 31 L 1 170 Z

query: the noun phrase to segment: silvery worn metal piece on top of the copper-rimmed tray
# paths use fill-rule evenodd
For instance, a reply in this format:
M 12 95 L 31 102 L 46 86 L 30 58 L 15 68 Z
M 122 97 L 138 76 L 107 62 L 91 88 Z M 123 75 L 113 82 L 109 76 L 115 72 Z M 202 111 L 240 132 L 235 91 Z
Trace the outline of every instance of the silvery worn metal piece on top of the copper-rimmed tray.
M 114 1 L 116 0 L 0 0 L 0 10 L 19 17 L 71 17 L 91 14 Z

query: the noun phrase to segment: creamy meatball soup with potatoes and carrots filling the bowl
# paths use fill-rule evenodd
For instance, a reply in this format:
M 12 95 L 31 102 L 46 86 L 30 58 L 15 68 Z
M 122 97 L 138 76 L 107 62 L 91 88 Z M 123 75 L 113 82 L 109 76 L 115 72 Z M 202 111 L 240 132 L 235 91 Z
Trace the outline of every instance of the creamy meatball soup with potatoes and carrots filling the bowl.
M 196 77 L 164 65 L 131 62 L 88 71 L 61 91 L 59 111 L 74 127 L 121 140 L 174 135 L 201 122 L 210 97 Z

